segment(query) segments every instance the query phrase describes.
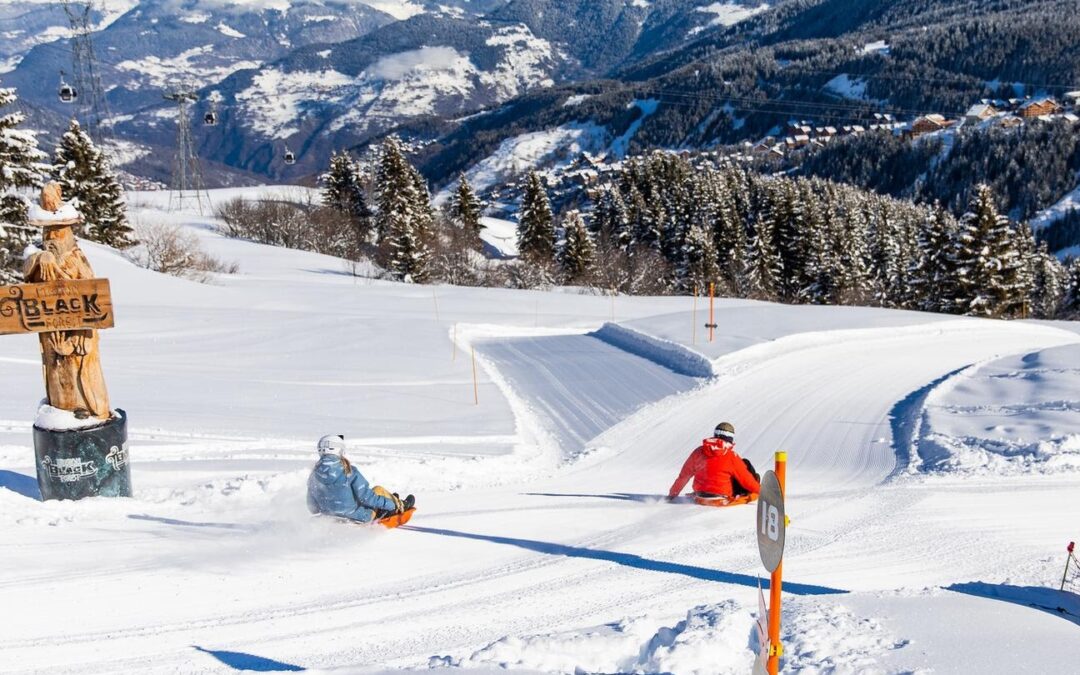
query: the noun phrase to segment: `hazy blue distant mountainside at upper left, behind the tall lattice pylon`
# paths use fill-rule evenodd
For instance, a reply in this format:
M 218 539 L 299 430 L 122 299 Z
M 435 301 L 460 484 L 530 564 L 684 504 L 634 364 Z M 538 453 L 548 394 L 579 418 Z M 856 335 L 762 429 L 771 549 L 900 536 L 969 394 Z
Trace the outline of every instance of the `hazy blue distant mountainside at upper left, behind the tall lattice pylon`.
M 348 40 L 394 22 L 348 0 L 139 0 L 123 9 L 93 36 L 102 85 L 111 111 L 120 116 L 157 105 L 163 90 L 219 82 L 306 44 Z M 67 36 L 62 31 L 55 38 Z M 52 84 L 40 86 L 58 85 L 60 70 L 72 70 L 66 39 L 30 50 L 4 83 L 25 92 L 21 96 L 36 107 L 70 114 L 71 107 L 57 100 Z

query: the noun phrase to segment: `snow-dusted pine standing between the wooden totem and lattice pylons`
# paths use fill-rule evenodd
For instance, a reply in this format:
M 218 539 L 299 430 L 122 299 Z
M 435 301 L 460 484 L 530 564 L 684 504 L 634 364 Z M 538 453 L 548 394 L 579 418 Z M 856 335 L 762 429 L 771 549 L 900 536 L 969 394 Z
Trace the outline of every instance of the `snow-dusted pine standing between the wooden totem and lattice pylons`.
M 86 239 L 113 248 L 127 248 L 135 243 L 120 180 L 77 120 L 71 120 L 56 146 L 52 174 L 60 184 L 65 200 L 79 200 L 79 212 L 86 220 Z

